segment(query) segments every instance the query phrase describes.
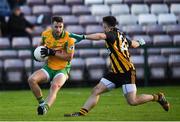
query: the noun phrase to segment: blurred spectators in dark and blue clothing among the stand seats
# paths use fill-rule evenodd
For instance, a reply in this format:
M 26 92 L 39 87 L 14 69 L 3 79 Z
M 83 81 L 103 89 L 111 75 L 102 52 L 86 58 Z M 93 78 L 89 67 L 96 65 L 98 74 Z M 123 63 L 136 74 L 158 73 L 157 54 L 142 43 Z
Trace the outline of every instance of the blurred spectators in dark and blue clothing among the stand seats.
M 13 37 L 27 36 L 31 37 L 34 25 L 28 22 L 20 6 L 25 4 L 25 0 L 1 0 L 0 5 L 0 36 Z

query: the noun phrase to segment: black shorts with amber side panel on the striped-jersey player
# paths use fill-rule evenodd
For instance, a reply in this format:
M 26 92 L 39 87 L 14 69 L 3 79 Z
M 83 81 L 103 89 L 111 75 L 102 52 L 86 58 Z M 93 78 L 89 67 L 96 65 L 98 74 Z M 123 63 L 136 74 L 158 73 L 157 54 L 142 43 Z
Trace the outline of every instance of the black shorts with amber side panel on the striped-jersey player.
M 113 73 L 109 72 L 103 78 L 111 81 L 116 85 L 116 88 L 124 84 L 135 84 L 136 82 L 136 71 L 129 70 L 125 73 Z

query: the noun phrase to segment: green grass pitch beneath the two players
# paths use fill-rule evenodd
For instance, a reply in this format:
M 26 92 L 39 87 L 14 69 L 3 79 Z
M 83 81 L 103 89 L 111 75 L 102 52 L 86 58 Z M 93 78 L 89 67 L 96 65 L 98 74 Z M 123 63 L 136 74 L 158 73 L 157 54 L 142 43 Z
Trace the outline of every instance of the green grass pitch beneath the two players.
M 101 96 L 98 105 L 85 117 L 63 117 L 64 113 L 78 111 L 89 96 L 91 88 L 62 88 L 55 104 L 45 116 L 37 116 L 37 101 L 32 92 L 0 91 L 0 121 L 162 121 L 180 120 L 180 86 L 145 87 L 138 93 L 165 92 L 171 103 L 169 112 L 165 112 L 155 102 L 140 106 L 129 106 L 121 89 L 116 89 Z M 43 91 L 47 95 L 48 90 Z

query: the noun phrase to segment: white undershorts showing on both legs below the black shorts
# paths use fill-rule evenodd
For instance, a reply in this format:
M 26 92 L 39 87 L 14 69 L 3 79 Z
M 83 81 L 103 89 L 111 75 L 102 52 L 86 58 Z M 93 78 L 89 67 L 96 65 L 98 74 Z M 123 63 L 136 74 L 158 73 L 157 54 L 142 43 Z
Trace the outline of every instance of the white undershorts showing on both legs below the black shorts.
M 100 82 L 103 83 L 109 91 L 116 87 L 116 85 L 113 82 L 111 82 L 105 78 L 102 78 L 100 80 Z M 137 91 L 136 84 L 124 84 L 124 85 L 122 85 L 122 90 L 123 90 L 123 94 Z

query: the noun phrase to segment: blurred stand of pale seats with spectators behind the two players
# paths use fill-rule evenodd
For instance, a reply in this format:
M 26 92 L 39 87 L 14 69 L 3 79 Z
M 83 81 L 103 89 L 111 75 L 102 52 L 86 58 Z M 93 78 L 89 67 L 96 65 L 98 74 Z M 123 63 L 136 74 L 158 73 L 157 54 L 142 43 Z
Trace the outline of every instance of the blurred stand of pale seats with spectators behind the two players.
M 52 15 L 77 34 L 102 32 L 102 17 L 114 15 L 127 36 L 146 41 L 130 49 L 137 85 L 180 84 L 180 0 L 0 0 L 0 90 L 29 88 L 28 76 L 44 64 L 32 50 Z M 96 84 L 108 71 L 107 54 L 103 40 L 78 43 L 64 87 Z

